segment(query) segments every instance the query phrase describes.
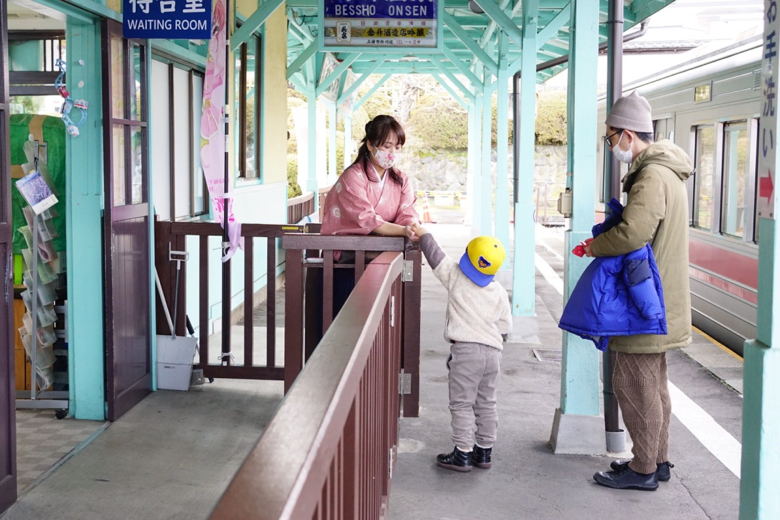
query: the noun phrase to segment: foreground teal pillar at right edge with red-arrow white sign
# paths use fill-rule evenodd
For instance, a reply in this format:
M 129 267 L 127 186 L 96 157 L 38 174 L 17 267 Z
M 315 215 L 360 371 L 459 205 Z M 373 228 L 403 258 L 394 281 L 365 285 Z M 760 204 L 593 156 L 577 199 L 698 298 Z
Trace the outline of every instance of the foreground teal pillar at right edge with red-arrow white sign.
M 763 103 L 758 135 L 758 322 L 756 339 L 745 342 L 742 405 L 742 479 L 739 518 L 780 518 L 780 229 L 778 208 L 777 88 L 780 10 L 777 0 L 764 0 L 762 52 Z M 777 296 L 777 298 L 775 298 Z

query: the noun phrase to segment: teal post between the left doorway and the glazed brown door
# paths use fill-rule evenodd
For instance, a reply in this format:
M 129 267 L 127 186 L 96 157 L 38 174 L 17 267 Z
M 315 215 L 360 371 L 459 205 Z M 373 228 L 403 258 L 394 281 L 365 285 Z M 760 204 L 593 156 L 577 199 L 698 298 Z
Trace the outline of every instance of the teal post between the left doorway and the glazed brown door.
M 66 241 L 68 250 L 68 356 L 70 415 L 77 419 L 106 418 L 105 343 L 103 316 L 103 159 L 95 150 L 103 144 L 100 26 L 68 17 L 68 52 L 91 66 L 71 67 L 68 85 L 90 104 L 79 137 L 65 139 L 67 176 Z M 71 91 L 74 89 L 71 87 Z M 96 273 L 97 276 L 96 276 Z

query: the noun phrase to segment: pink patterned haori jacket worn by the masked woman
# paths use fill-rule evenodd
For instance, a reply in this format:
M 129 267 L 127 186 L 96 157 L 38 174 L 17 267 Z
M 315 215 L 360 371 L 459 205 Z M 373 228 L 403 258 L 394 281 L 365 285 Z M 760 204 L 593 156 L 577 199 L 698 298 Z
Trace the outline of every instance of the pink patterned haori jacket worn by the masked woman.
M 368 235 L 385 222 L 400 226 L 419 222 L 409 178 L 396 170 L 402 184 L 395 183 L 389 174 L 382 183 L 373 164 L 369 169 L 366 173 L 362 165 L 353 164 L 328 192 L 323 235 Z

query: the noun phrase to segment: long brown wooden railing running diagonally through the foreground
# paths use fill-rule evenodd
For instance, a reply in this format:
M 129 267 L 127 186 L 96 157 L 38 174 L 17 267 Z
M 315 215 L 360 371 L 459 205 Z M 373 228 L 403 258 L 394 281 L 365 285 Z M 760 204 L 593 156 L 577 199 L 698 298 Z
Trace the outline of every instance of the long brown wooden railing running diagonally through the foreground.
M 365 268 L 211 518 L 387 516 L 398 445 L 402 268 L 399 252 Z

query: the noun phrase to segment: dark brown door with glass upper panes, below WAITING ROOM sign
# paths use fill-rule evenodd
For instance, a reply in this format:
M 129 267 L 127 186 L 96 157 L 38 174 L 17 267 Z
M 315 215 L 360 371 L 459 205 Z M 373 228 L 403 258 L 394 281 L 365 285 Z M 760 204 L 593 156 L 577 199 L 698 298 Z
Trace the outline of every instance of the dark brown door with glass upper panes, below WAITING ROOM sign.
M 152 388 L 149 324 L 148 47 L 103 26 L 106 397 L 108 419 Z

